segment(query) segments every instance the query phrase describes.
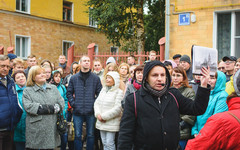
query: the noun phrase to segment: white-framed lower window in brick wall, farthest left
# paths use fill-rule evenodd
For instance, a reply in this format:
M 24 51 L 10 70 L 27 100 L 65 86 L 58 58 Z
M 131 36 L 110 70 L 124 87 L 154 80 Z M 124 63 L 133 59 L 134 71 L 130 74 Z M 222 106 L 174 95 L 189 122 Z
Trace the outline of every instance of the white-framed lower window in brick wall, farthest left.
M 31 54 L 31 38 L 29 36 L 16 35 L 15 37 L 16 55 L 22 59 L 27 59 Z

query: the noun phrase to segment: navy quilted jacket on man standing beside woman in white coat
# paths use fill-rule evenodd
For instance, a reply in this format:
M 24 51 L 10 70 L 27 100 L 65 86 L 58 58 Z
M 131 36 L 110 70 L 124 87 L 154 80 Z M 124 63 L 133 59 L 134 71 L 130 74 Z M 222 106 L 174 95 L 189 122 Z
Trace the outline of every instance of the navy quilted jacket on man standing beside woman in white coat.
M 101 89 L 100 78 L 94 73 L 90 72 L 86 81 L 83 80 L 81 71 L 73 75 L 67 88 L 67 98 L 73 108 L 73 114 L 93 115 L 93 104 Z

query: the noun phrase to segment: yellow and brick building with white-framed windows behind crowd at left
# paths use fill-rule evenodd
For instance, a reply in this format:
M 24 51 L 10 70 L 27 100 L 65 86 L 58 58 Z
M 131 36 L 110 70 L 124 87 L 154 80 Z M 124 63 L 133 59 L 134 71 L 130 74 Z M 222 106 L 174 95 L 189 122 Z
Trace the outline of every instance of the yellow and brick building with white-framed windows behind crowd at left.
M 14 53 L 26 59 L 30 54 L 40 62 L 58 61 L 74 45 L 75 55 L 87 53 L 96 43 L 96 52 L 110 52 L 106 36 L 95 31 L 89 17 L 87 0 L 1 0 L 0 46 L 14 47 Z

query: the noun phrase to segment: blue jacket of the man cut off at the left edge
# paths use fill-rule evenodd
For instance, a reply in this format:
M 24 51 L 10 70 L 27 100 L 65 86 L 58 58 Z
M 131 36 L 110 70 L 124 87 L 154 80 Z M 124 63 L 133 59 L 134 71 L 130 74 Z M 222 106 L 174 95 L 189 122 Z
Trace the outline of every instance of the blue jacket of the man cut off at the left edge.
M 13 130 L 22 115 L 18 104 L 17 92 L 13 79 L 7 76 L 7 87 L 0 81 L 0 129 Z

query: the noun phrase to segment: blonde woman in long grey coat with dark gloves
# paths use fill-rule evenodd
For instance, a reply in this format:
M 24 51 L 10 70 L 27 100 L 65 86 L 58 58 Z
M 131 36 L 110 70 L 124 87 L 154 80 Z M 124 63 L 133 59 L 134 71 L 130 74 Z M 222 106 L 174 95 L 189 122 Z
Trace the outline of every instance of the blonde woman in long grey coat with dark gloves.
M 23 91 L 26 116 L 26 148 L 54 149 L 60 145 L 57 113 L 64 100 L 55 85 L 46 83 L 44 68 L 31 67 L 27 87 Z

